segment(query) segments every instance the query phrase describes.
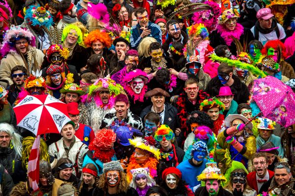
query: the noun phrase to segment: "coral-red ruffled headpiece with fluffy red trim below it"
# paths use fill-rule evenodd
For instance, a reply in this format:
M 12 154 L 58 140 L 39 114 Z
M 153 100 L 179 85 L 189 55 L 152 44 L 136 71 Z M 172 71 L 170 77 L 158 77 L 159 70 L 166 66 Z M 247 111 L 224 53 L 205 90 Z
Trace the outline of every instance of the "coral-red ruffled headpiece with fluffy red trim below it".
M 89 144 L 89 150 L 93 150 L 93 158 L 107 163 L 112 161 L 115 155 L 115 142 L 116 133 L 112 129 L 104 128 L 96 132 L 95 139 Z

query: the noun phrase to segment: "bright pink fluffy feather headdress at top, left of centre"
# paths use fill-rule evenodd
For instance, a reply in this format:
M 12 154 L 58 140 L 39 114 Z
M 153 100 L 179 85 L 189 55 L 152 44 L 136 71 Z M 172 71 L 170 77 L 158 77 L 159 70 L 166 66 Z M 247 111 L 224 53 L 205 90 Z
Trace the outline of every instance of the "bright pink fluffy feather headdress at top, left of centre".
M 110 14 L 107 7 L 103 3 L 93 4 L 88 3 L 87 11 L 93 18 L 108 24 L 110 21 Z

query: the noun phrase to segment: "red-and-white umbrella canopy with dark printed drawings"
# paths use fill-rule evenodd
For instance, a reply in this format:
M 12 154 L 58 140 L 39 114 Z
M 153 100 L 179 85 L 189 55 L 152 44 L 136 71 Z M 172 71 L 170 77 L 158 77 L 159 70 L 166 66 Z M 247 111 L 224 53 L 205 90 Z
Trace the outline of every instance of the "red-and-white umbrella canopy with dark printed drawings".
M 28 95 L 13 110 L 17 125 L 35 135 L 59 133 L 71 121 L 66 104 L 51 95 Z

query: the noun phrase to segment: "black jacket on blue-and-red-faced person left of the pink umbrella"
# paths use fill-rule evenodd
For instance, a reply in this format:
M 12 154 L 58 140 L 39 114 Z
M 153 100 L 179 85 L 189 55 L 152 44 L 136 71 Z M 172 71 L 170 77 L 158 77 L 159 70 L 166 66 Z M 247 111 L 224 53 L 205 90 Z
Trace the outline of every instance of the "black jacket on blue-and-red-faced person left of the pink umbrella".
M 230 88 L 232 90 L 232 93 L 235 95 L 234 100 L 237 102 L 237 104 L 246 103 L 249 98 L 249 90 L 247 86 L 244 83 L 242 83 L 236 75 L 233 75 L 233 79 L 235 80 L 235 82 L 232 86 L 230 86 Z M 219 94 L 219 89 L 222 86 L 223 84 L 221 84 L 217 75 L 208 82 L 205 91 L 211 97 L 215 97 Z

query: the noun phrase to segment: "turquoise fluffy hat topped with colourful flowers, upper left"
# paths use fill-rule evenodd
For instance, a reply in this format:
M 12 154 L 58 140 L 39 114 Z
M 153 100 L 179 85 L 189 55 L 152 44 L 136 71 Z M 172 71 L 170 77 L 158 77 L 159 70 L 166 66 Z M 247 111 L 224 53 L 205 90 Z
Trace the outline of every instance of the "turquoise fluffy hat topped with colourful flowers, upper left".
M 53 25 L 53 19 L 50 12 L 45 7 L 29 6 L 26 11 L 25 21 L 31 22 L 33 26 L 39 25 L 46 27 L 47 29 Z

